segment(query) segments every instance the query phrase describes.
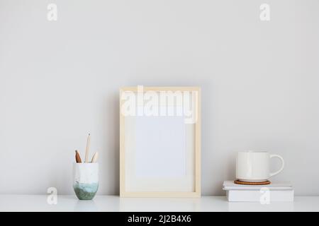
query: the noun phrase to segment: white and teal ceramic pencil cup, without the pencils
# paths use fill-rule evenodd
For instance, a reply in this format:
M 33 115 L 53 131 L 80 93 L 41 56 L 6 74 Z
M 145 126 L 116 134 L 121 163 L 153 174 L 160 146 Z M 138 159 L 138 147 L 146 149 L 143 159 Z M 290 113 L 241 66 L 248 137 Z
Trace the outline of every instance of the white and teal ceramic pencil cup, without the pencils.
M 73 189 L 80 200 L 91 200 L 99 189 L 99 163 L 73 164 Z

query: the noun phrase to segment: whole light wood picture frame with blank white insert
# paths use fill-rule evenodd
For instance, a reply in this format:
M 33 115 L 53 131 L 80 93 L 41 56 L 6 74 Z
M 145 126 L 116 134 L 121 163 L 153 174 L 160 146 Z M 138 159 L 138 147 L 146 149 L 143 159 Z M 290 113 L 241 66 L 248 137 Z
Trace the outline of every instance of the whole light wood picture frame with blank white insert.
M 147 100 L 151 100 L 150 96 L 152 95 L 150 94 L 154 95 L 153 100 L 157 100 L 157 102 L 159 102 L 159 108 L 161 108 L 161 110 L 163 109 L 164 105 L 167 106 L 167 108 L 164 108 L 165 111 L 163 110 L 161 112 L 161 110 L 158 110 L 156 108 L 156 105 L 153 104 L 153 108 L 150 107 L 150 109 L 152 109 L 153 111 L 152 114 L 148 112 L 148 114 L 146 115 L 147 108 L 145 99 L 148 98 Z M 140 99 L 141 95 L 143 96 L 142 101 Z M 158 95 L 158 98 L 155 98 L 156 95 Z M 165 98 L 163 97 L 164 95 L 166 95 Z M 181 95 L 181 98 L 179 97 L 179 95 Z M 145 96 L 147 96 L 147 98 Z M 173 98 L 175 98 L 174 101 L 172 101 Z M 133 105 L 130 105 L 130 107 L 128 107 L 129 99 L 135 100 Z M 164 99 L 169 99 L 171 102 L 165 103 L 164 101 L 162 101 Z M 181 102 L 181 99 L 182 104 L 179 103 Z M 191 109 L 189 111 L 191 112 L 191 114 L 187 114 L 187 117 L 189 117 L 189 115 L 191 115 L 191 117 L 187 118 L 185 114 L 185 106 L 188 105 L 187 102 L 189 100 L 191 102 L 191 104 L 189 104 L 189 106 L 191 106 L 189 107 L 189 109 Z M 134 105 L 136 108 L 134 107 Z M 141 114 L 139 112 L 140 109 L 145 112 Z M 174 111 L 172 110 L 174 114 L 177 114 L 177 112 L 180 113 L 182 111 L 180 109 L 184 109 L 184 111 L 182 112 L 182 115 L 169 115 L 167 117 L 167 115 L 165 114 L 168 114 L 167 112 L 169 112 L 169 109 L 174 109 Z M 156 114 L 157 110 L 158 112 L 160 112 L 160 115 Z M 164 117 L 162 117 L 163 112 L 165 113 Z M 156 122 L 159 119 L 164 119 L 164 125 L 162 121 Z M 184 125 L 181 123 L 181 119 L 184 120 Z M 151 136 L 150 134 L 152 134 L 152 132 L 150 131 L 159 131 L 165 125 L 173 126 L 172 129 L 171 127 L 169 127 L 169 129 L 172 130 L 172 134 L 170 133 L 165 135 L 166 138 L 168 138 L 167 141 L 169 141 L 167 144 L 167 147 L 169 148 L 160 149 L 161 147 L 159 146 L 162 146 L 164 142 L 158 141 L 157 144 L 152 143 L 152 141 L 156 141 L 156 139 L 152 139 L 152 137 L 149 137 Z M 174 132 L 175 130 L 178 132 Z M 169 130 L 166 129 L 164 133 L 166 133 L 166 131 Z M 157 133 L 155 134 L 155 138 L 156 135 Z M 143 139 L 140 138 L 141 136 Z M 172 146 L 174 147 L 170 146 L 171 142 Z M 153 146 L 151 147 L 151 145 Z M 150 159 L 154 157 L 154 153 L 152 153 L 152 151 L 155 151 L 155 149 L 158 148 L 161 153 L 159 153 L 158 151 L 154 152 L 157 158 L 156 160 L 153 160 L 153 165 L 159 165 L 159 167 L 156 168 L 152 165 L 152 168 L 150 168 L 150 164 L 152 164 L 150 163 L 152 162 L 150 161 Z M 144 152 L 142 152 L 142 150 L 144 150 Z M 145 150 L 150 151 L 150 153 L 146 153 Z M 167 151 L 166 157 L 164 156 L 164 154 L 162 156 L 162 151 Z M 145 157 L 145 153 L 148 158 Z M 172 157 L 168 155 L 172 155 Z M 160 161 L 157 161 L 157 159 L 161 158 L 163 159 L 162 163 L 160 163 Z M 175 162 L 173 162 L 174 160 L 172 160 L 172 158 L 174 158 L 174 160 L 177 160 L 175 161 L 176 164 Z M 170 162 L 170 164 L 168 164 L 167 162 Z M 147 168 L 147 166 L 145 165 L 147 165 L 149 168 Z M 173 170 L 167 169 L 168 166 L 170 166 Z M 152 177 L 152 173 L 155 175 L 154 177 Z M 137 176 L 137 174 L 142 174 L 142 176 Z M 201 196 L 200 88 L 137 86 L 125 87 L 120 89 L 120 196 Z

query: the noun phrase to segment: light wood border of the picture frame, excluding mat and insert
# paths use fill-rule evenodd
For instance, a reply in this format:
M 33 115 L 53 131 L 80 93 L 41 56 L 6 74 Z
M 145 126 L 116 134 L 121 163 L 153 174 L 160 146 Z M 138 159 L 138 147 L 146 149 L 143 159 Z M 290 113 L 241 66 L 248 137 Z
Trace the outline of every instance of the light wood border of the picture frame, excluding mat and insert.
M 195 191 L 191 192 L 130 192 L 125 191 L 125 117 L 121 114 L 122 100 L 121 95 L 125 91 L 137 92 L 138 87 L 123 87 L 120 88 L 120 100 L 119 100 L 119 111 L 120 111 L 120 196 L 121 197 L 200 197 L 201 196 L 201 88 L 197 86 L 174 86 L 174 87 L 157 87 L 157 86 L 145 86 L 144 91 L 154 90 L 154 91 L 197 91 L 198 100 L 196 102 L 197 108 L 197 121 L 195 124 Z

